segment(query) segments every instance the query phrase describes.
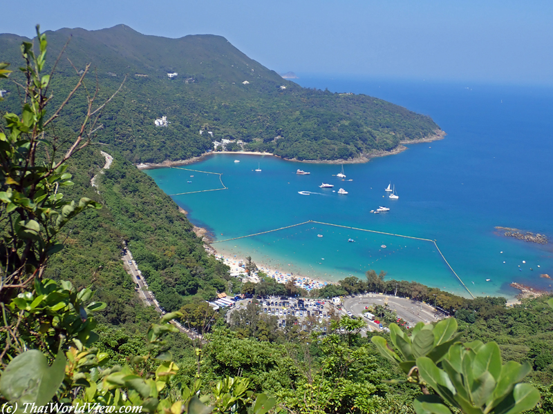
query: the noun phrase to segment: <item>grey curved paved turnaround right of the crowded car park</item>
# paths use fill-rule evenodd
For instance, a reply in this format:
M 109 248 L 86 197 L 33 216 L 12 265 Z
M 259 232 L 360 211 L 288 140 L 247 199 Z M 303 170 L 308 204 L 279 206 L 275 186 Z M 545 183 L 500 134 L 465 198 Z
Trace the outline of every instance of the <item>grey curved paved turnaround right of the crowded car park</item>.
M 343 308 L 345 311 L 350 311 L 355 316 L 363 316 L 365 306 L 384 306 L 385 303 L 397 313 L 397 317 L 401 317 L 409 322 L 410 326 L 415 326 L 418 322 L 429 324 L 430 322 L 435 322 L 440 319 L 440 314 L 436 313 L 435 309 L 428 304 L 423 304 L 404 297 L 379 295 L 377 293 L 346 297 L 346 299 L 344 299 Z M 376 315 L 376 317 L 378 317 L 378 315 Z M 369 322 L 369 326 L 376 326 L 376 324 L 374 322 Z

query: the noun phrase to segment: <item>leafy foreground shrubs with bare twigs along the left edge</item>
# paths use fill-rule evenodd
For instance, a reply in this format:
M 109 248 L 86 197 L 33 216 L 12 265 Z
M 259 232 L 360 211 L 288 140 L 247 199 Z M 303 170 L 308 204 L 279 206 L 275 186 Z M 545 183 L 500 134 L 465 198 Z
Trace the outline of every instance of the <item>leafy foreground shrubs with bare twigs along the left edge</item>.
M 145 354 L 130 355 L 123 366 L 105 368 L 109 355 L 92 346 L 98 338 L 93 331 L 93 312 L 101 311 L 105 304 L 91 302 L 89 288 L 77 290 L 69 282 L 58 284 L 43 277 L 48 258 L 63 248 L 59 230 L 85 208 L 100 207 L 89 199 L 81 199 L 79 204 L 66 202 L 59 190 L 71 185 L 66 161 L 90 143 L 100 127 L 97 121 L 102 108 L 111 98 L 95 106 L 97 90 L 89 95 L 85 88 L 87 106 L 77 137 L 67 145 L 50 133 L 48 125 L 76 90 L 84 88 L 90 66 L 47 119 L 51 76 L 41 75 L 47 42 L 38 26 L 37 40 L 38 55 L 32 43 L 24 42 L 21 47 L 26 63 L 22 68 L 26 83 L 20 85 L 24 97 L 21 117 L 6 114 L 8 133 L 0 132 L 0 221 L 4 224 L 0 241 L 0 398 L 12 405 L 8 411 L 15 411 L 16 406 L 21 409 L 23 403 L 43 406 L 53 401 L 134 405 L 160 414 L 207 414 L 213 409 L 267 413 L 274 399 L 247 390 L 249 382 L 241 379 L 218 382 L 212 407 L 204 405 L 211 397 L 200 396 L 201 382 L 192 389 L 171 384 L 178 366 L 165 349 L 165 337 L 179 332 L 169 322 L 182 317 L 181 313 L 167 313 L 160 324 L 150 326 Z M 0 63 L 0 77 L 9 74 L 6 67 Z M 66 148 L 61 156 L 57 155 L 60 148 Z

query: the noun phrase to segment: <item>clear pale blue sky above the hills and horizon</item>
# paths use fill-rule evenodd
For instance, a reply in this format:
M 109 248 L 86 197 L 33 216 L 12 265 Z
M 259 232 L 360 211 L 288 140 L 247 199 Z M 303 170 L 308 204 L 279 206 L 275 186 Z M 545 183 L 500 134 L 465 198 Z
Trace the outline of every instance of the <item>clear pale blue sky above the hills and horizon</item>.
M 220 34 L 277 72 L 553 84 L 553 1 L 28 0 L 1 7 L 0 32 Z

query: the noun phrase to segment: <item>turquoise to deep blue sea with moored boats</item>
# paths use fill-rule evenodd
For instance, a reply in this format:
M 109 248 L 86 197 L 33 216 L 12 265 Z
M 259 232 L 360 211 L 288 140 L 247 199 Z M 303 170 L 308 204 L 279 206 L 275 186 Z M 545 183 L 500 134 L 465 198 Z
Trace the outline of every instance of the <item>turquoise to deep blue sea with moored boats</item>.
M 435 239 L 475 296 L 514 297 L 511 282 L 551 288 L 553 281 L 540 275 L 553 277 L 553 244 L 503 237 L 495 226 L 542 233 L 553 242 L 553 88 L 302 78 L 301 86 L 364 93 L 429 115 L 447 137 L 367 164 L 345 164 L 353 181 L 335 177 L 340 166 L 258 155 L 214 155 L 183 167 L 223 173 L 227 190 L 174 195 L 221 188 L 221 181 L 176 168 L 147 173 L 216 240 L 315 220 Z M 261 172 L 254 171 L 258 165 Z M 298 168 L 311 174 L 294 174 Z M 335 187 L 321 190 L 322 182 Z M 399 199 L 388 199 L 389 182 Z M 340 187 L 348 195 L 332 193 Z M 313 194 L 299 195 L 302 190 Z M 391 210 L 369 213 L 379 206 Z M 214 247 L 294 275 L 336 281 L 364 277 L 372 268 L 469 295 L 434 244 L 422 240 L 309 223 Z

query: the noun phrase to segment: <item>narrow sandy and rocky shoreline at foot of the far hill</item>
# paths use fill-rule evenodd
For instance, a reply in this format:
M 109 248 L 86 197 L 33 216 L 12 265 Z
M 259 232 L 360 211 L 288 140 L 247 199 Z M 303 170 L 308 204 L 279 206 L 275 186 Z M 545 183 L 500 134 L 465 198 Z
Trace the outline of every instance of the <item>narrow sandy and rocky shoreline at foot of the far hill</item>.
M 209 157 L 209 155 L 215 155 L 215 154 L 239 154 L 239 155 L 270 155 L 272 157 L 279 157 L 281 159 L 284 159 L 285 161 L 295 161 L 295 162 L 302 162 L 305 164 L 365 164 L 368 161 L 371 161 L 373 158 L 379 158 L 379 157 L 388 157 L 388 155 L 397 155 L 400 152 L 403 152 L 404 150 L 408 150 L 405 146 L 405 144 L 423 144 L 427 142 L 432 141 L 440 141 L 440 139 L 444 139 L 446 136 L 446 132 L 439 130 L 435 131 L 434 135 L 429 135 L 428 137 L 420 138 L 420 139 L 406 139 L 404 141 L 400 141 L 400 144 L 395 147 L 391 151 L 384 151 L 384 150 L 373 150 L 371 152 L 366 152 L 363 154 L 360 154 L 359 157 L 353 158 L 353 159 L 303 159 L 299 160 L 296 158 L 283 158 L 279 155 L 274 155 L 272 152 L 259 152 L 259 151 L 208 151 L 204 152 L 202 155 L 198 155 L 198 157 L 192 157 L 189 159 L 180 159 L 177 161 L 169 161 L 165 160 L 161 163 L 140 163 L 135 164 L 136 168 L 139 170 L 151 170 L 153 168 L 168 168 L 168 167 L 176 167 L 176 166 L 185 166 L 187 164 L 193 164 L 197 161 L 202 161 L 206 157 Z

